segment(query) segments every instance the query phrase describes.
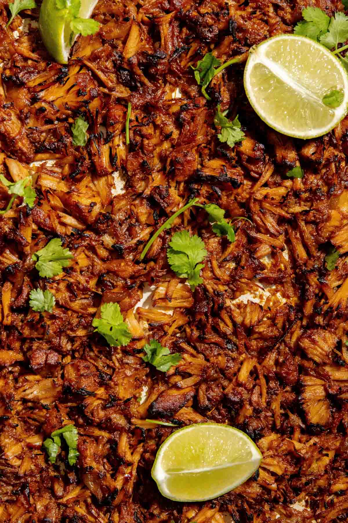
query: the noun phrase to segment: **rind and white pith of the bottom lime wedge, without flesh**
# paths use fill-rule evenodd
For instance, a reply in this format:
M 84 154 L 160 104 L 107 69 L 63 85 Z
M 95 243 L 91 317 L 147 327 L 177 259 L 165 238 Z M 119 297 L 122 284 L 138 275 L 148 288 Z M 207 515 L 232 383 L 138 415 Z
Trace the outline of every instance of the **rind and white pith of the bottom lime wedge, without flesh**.
M 222 431 L 224 431 L 224 430 L 230 431 L 231 433 L 233 432 L 234 438 L 237 435 L 237 439 L 240 442 L 243 441 L 245 443 L 246 447 L 248 447 L 248 450 L 251 451 L 251 459 L 248 460 L 247 463 L 244 461 L 243 462 L 231 462 L 231 463 L 224 463 L 222 465 L 217 465 L 216 467 L 209 467 L 209 468 L 207 468 L 207 467 L 191 468 L 191 469 L 187 468 L 186 470 L 183 470 L 183 469 L 175 470 L 175 469 L 171 468 L 168 470 L 164 470 L 162 467 L 162 460 L 163 460 L 163 457 L 164 457 L 165 452 L 168 449 L 169 445 L 175 445 L 175 440 L 177 440 L 177 439 L 180 440 L 180 439 L 183 439 L 183 437 L 190 438 L 190 433 L 192 433 L 192 431 L 197 430 L 197 427 L 199 427 L 199 428 L 206 427 L 207 428 L 207 444 L 209 443 L 209 440 L 210 440 L 210 437 L 209 437 L 210 434 L 212 435 L 211 429 L 213 429 L 214 432 L 216 431 L 216 429 L 222 430 Z M 180 444 L 180 443 L 178 442 L 178 444 Z M 225 494 L 226 492 L 230 492 L 231 490 L 233 490 L 233 488 L 236 488 L 237 486 L 239 486 L 242 483 L 244 483 L 245 481 L 247 481 L 249 479 L 249 477 L 251 477 L 255 473 L 255 471 L 258 469 L 258 467 L 261 463 L 261 459 L 262 459 L 261 452 L 255 445 L 253 440 L 251 440 L 249 438 L 249 436 L 247 436 L 242 430 L 236 429 L 235 427 L 231 427 L 230 425 L 223 425 L 223 424 L 217 424 L 217 423 L 199 423 L 199 424 L 193 424 L 193 425 L 189 425 L 187 427 L 178 429 L 173 434 L 171 434 L 171 436 L 166 438 L 166 440 L 162 443 L 162 445 L 158 449 L 157 456 L 154 460 L 153 467 L 151 470 L 151 475 L 152 475 L 153 480 L 157 483 L 158 489 L 159 489 L 160 493 L 162 494 L 162 496 L 172 499 L 172 501 L 177 501 L 177 502 L 208 501 L 209 499 L 214 499 L 218 496 Z M 235 477 L 233 475 L 233 468 L 238 467 L 239 465 L 247 465 L 248 470 L 243 475 L 238 475 L 238 477 Z M 214 490 L 213 493 L 210 492 L 208 495 L 207 495 L 207 492 L 203 492 L 201 496 L 195 496 L 194 498 L 190 495 L 187 495 L 186 497 L 176 496 L 175 494 L 173 494 L 173 492 L 171 492 L 170 488 L 167 487 L 167 480 L 169 480 L 170 477 L 175 474 L 187 473 L 190 476 L 193 476 L 195 474 L 201 474 L 201 473 L 207 473 L 207 472 L 223 473 L 224 471 L 226 471 L 226 469 L 231 469 L 231 482 L 229 482 L 228 485 L 226 485 L 226 483 L 225 483 L 223 486 L 221 486 L 221 485 L 219 485 L 219 483 L 217 483 L 216 490 Z M 210 485 L 210 487 L 211 487 L 211 485 Z

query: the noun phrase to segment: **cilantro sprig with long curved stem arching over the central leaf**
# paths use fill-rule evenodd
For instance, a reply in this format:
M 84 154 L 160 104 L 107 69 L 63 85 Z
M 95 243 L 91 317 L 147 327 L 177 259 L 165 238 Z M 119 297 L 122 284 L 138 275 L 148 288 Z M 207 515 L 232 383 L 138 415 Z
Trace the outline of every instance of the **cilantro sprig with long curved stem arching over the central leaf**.
M 168 218 L 161 226 L 160 228 L 154 233 L 153 236 L 151 236 L 148 243 L 145 245 L 145 247 L 142 250 L 142 253 L 140 254 L 139 258 L 142 260 L 145 258 L 146 253 L 149 251 L 149 248 L 153 244 L 156 238 L 161 234 L 164 229 L 170 229 L 175 218 L 179 216 L 182 212 L 186 211 L 190 207 L 196 206 L 201 207 L 209 214 L 209 221 L 217 222 L 217 224 L 212 225 L 212 231 L 217 234 L 218 236 L 227 236 L 230 240 L 230 242 L 235 241 L 233 226 L 230 225 L 223 217 L 225 214 L 225 211 L 221 209 L 219 206 L 215 205 L 215 203 L 207 203 L 206 205 L 201 205 L 200 203 L 197 203 L 198 198 L 194 198 L 193 200 L 190 200 L 184 207 L 176 211 L 170 218 Z M 219 212 L 217 211 L 219 210 Z

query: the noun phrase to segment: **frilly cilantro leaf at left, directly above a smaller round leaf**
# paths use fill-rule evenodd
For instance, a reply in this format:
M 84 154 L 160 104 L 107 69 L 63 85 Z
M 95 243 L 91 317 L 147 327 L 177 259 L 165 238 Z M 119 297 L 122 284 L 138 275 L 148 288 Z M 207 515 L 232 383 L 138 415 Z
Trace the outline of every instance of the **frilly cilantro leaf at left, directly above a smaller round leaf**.
M 73 255 L 69 249 L 62 247 L 60 238 L 53 238 L 45 247 L 32 255 L 32 259 L 36 261 L 35 268 L 42 278 L 52 278 L 61 274 L 63 267 L 69 266 L 71 258 Z

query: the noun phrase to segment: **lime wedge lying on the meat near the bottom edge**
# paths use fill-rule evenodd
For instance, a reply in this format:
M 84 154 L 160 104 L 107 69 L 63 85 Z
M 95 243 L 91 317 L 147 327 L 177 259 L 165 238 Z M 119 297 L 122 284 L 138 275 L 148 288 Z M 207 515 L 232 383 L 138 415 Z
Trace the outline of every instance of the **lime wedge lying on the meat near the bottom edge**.
M 173 501 L 206 501 L 244 483 L 261 459 L 241 430 L 197 423 L 176 430 L 162 443 L 151 474 L 161 494 Z

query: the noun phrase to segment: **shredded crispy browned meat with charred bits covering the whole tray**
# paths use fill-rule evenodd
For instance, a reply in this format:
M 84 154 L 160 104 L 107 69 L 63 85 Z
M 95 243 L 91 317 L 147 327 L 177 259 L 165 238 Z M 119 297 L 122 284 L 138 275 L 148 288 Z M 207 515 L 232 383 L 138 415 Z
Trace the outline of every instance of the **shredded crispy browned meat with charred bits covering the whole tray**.
M 208 51 L 225 61 L 292 32 L 308 5 L 342 9 L 327 0 L 100 0 L 99 32 L 79 37 L 63 66 L 43 48 L 38 9 L 6 28 L 0 2 L 0 169 L 10 181 L 32 175 L 37 194 L 32 209 L 17 198 L 0 215 L 1 522 L 347 520 L 348 118 L 316 140 L 286 138 L 248 105 L 243 63 L 213 78 L 209 102 L 190 68 Z M 217 138 L 217 104 L 238 113 L 246 133 L 233 148 Z M 86 147 L 71 137 L 79 115 Z M 304 178 L 287 178 L 299 164 Z M 125 181 L 118 195 L 115 171 Z M 192 197 L 253 223 L 235 221 L 230 243 L 191 208 L 140 262 L 150 236 Z M 0 184 L 1 209 L 9 199 Z M 182 229 L 208 251 L 194 292 L 166 258 Z M 32 254 L 57 237 L 74 259 L 40 278 Z M 330 245 L 342 256 L 328 271 Z M 134 310 L 146 285 L 152 308 Z M 52 313 L 29 308 L 37 288 L 54 294 Z M 93 333 L 107 302 L 133 335 L 126 347 Z M 151 338 L 181 354 L 175 369 L 142 360 Z M 174 429 L 145 418 L 236 426 L 258 445 L 261 467 L 212 502 L 171 502 L 150 471 Z M 71 423 L 78 461 L 69 465 L 63 446 L 52 464 L 42 442 Z

